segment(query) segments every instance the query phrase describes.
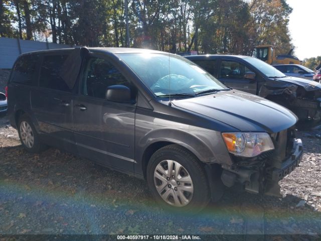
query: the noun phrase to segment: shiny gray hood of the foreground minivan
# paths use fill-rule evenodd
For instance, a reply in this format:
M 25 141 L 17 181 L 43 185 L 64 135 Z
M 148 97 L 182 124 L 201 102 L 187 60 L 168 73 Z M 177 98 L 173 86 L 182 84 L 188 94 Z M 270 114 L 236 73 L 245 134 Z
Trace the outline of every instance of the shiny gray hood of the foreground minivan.
M 172 104 L 243 132 L 277 133 L 297 122 L 297 117 L 283 106 L 237 90 L 173 100 Z

